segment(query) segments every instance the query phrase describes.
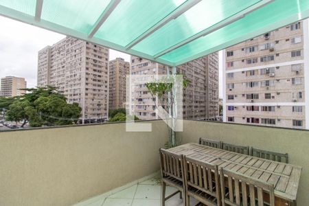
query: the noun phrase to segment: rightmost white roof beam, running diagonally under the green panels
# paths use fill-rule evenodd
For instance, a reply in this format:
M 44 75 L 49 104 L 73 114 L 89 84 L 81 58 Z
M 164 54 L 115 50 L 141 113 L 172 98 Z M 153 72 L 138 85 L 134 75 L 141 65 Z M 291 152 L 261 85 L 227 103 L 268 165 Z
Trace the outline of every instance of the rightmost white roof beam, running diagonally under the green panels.
M 215 24 L 215 25 L 212 25 L 211 27 L 208 27 L 207 29 L 201 31 L 201 32 L 198 32 L 197 34 L 194 34 L 193 36 L 185 39 L 184 41 L 181 41 L 180 43 L 177 43 L 176 45 L 173 45 L 172 47 L 169 47 L 168 49 L 165 49 L 163 50 L 162 52 L 159 52 L 158 54 L 155 54 L 154 58 L 157 59 L 159 58 L 160 56 L 163 56 L 164 54 L 167 54 L 169 52 L 172 52 L 174 49 L 177 49 L 187 43 L 190 43 L 194 40 L 196 40 L 197 38 L 200 38 L 202 36 L 206 36 L 207 34 L 210 34 L 212 32 L 216 32 L 216 30 L 220 30 L 222 27 L 225 27 L 235 21 L 238 21 L 242 18 L 244 18 L 244 16 L 246 16 L 247 14 L 255 11 L 255 10 L 258 10 L 259 8 L 263 7 L 264 5 L 268 4 L 268 3 L 271 3 L 275 0 L 262 0 L 262 1 L 259 1 L 258 3 L 255 3 L 254 5 L 251 5 L 249 8 L 246 8 L 240 12 L 238 12 L 237 14 L 227 18 L 227 19 L 224 19 L 222 21 L 220 21 L 219 23 Z

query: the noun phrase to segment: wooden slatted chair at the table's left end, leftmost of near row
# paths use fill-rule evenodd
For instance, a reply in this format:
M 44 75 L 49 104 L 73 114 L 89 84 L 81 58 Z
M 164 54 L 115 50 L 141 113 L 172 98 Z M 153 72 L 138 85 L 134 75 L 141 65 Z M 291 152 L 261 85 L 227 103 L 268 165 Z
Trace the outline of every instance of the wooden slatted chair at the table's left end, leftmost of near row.
M 161 205 L 165 205 L 165 201 L 180 193 L 180 198 L 185 196 L 185 185 L 183 184 L 183 155 L 176 155 L 168 150 L 160 149 L 161 163 Z M 178 191 L 165 197 L 166 185 L 175 187 Z M 183 201 L 185 205 L 185 200 Z

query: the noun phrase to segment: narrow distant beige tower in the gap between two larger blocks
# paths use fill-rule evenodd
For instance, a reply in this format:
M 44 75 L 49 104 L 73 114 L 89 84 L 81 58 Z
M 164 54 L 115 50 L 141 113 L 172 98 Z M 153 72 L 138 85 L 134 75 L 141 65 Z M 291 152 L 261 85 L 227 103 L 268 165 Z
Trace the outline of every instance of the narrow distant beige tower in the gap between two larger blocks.
M 126 77 L 130 73 L 130 62 L 116 58 L 109 62 L 109 109 L 125 108 Z

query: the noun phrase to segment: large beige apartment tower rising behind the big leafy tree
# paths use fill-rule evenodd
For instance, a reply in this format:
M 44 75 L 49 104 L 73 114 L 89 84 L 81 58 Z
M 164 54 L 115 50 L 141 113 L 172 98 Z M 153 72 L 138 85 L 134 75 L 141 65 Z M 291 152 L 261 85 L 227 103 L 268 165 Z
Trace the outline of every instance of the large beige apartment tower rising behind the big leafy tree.
M 67 36 L 38 52 L 38 87 L 63 91 L 68 103 L 82 108 L 82 120 L 108 118 L 108 56 L 100 45 Z

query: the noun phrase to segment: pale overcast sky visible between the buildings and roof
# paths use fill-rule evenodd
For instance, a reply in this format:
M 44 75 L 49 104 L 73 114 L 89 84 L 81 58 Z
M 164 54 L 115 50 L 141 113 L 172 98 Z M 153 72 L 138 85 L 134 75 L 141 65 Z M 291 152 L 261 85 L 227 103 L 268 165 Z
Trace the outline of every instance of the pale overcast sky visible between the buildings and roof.
M 64 35 L 26 23 L 0 16 L 0 78 L 5 76 L 23 77 L 27 87 L 36 87 L 38 51 L 47 45 L 57 43 Z M 109 59 L 122 57 L 130 62 L 130 55 L 110 49 Z M 219 55 L 222 57 L 222 54 Z M 222 71 L 221 60 L 220 71 Z M 219 95 L 222 97 L 222 72 L 220 72 Z

